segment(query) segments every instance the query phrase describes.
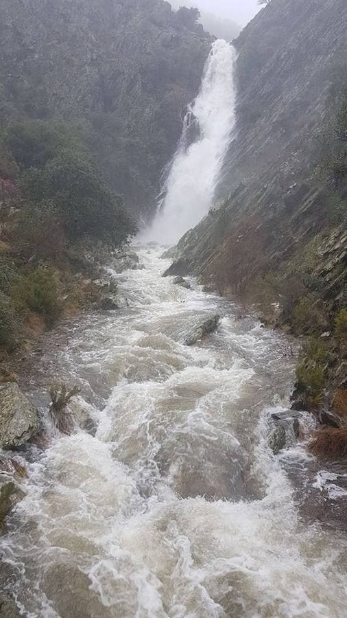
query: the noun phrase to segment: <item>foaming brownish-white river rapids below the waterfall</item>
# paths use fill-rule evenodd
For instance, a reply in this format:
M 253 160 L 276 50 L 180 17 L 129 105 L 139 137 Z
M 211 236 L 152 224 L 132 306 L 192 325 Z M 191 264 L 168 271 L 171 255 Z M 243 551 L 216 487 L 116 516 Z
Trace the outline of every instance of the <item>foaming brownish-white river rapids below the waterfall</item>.
M 80 426 L 62 435 L 46 413 L 45 450 L 27 453 L 1 538 L 17 604 L 49 618 L 342 618 L 346 543 L 300 516 L 306 488 L 286 470 L 304 451 L 267 447 L 293 379 L 285 343 L 161 277 L 161 251 L 140 248 L 145 270 L 119 275 L 127 309 L 62 325 L 23 367 L 38 404 L 57 378 L 82 393 Z M 215 312 L 217 332 L 184 345 Z

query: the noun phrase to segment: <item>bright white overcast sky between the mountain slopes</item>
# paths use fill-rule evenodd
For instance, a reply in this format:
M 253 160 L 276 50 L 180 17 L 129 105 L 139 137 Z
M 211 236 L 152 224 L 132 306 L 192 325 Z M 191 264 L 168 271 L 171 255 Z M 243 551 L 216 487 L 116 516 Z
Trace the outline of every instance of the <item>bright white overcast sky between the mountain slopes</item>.
M 256 0 L 171 0 L 171 5 L 197 6 L 200 10 L 228 17 L 241 26 L 246 25 L 261 8 Z

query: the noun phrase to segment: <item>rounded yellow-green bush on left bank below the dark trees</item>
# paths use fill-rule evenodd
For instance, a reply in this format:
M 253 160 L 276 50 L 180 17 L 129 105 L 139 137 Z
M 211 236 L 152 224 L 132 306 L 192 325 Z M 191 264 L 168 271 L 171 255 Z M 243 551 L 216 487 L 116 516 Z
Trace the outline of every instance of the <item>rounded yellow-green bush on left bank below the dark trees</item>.
M 33 311 L 48 323 L 57 319 L 62 308 L 56 274 L 52 268 L 43 266 L 19 279 L 12 290 L 12 299 L 24 316 Z

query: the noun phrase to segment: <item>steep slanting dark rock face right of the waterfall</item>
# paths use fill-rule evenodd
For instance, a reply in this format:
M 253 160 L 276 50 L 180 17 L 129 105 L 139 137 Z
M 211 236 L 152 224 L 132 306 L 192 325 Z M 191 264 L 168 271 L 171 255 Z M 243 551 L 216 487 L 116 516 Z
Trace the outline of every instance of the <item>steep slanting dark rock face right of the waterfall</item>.
M 317 165 L 320 131 L 331 119 L 335 95 L 347 82 L 345 0 L 272 0 L 243 30 L 237 52 L 237 127 L 217 189 L 216 205 L 178 244 L 169 273 L 215 275 L 226 244 L 243 221 L 261 230 L 263 249 L 249 260 L 254 275 L 292 260 L 326 232 L 324 264 L 342 284 L 346 264 L 343 225 L 327 220 L 328 194 Z M 328 247 L 339 244 L 331 264 Z M 345 244 L 344 244 L 345 243 Z M 252 243 L 250 242 L 250 245 Z M 327 271 L 326 271 L 327 272 Z M 328 286 L 328 280 L 326 285 Z

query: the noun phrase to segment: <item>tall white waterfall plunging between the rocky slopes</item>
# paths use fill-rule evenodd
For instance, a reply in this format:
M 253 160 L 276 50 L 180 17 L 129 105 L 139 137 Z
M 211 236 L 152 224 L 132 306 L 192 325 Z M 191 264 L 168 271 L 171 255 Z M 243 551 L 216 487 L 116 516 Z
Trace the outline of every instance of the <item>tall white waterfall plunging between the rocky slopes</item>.
M 182 138 L 165 183 L 165 198 L 146 240 L 173 244 L 204 217 L 213 203 L 230 135 L 235 124 L 235 50 L 213 43 L 198 97 L 189 106 Z M 188 143 L 189 127 L 196 136 Z

